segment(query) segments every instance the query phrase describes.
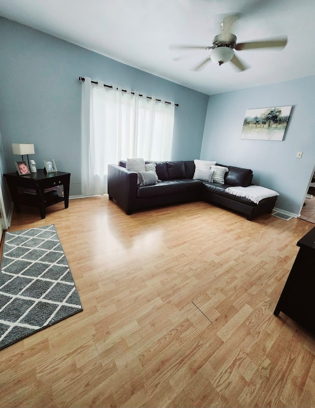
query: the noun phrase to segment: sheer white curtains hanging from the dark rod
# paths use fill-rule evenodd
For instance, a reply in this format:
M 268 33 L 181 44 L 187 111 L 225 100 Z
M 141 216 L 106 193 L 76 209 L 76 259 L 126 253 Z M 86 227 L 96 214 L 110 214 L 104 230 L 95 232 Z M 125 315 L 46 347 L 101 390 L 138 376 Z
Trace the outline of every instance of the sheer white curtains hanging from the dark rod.
M 107 165 L 127 158 L 169 160 L 175 106 L 154 97 L 82 83 L 82 194 L 107 193 Z

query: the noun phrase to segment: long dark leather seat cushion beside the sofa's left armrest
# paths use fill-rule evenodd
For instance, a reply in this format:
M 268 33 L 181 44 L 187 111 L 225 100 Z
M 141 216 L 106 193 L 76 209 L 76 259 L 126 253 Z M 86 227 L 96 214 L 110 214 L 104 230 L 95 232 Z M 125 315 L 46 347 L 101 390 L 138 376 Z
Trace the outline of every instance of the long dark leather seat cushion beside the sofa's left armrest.
M 139 186 L 138 198 L 163 196 L 167 194 L 186 193 L 194 190 L 202 190 L 203 183 L 199 180 L 182 179 L 182 180 L 168 180 L 159 181 L 152 186 Z

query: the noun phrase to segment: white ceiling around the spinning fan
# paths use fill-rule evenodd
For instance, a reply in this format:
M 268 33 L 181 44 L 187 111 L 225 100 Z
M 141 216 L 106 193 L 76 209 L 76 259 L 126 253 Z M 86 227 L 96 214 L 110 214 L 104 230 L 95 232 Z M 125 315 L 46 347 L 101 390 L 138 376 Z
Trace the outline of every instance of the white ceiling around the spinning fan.
M 237 42 L 287 35 L 286 47 L 236 51 L 244 72 L 195 72 L 207 51 L 169 49 L 212 45 L 230 13 L 241 14 Z M 0 0 L 0 15 L 209 95 L 315 75 L 314 0 Z

